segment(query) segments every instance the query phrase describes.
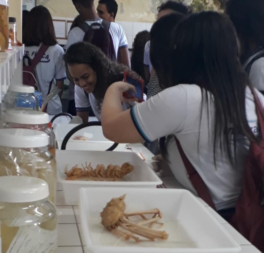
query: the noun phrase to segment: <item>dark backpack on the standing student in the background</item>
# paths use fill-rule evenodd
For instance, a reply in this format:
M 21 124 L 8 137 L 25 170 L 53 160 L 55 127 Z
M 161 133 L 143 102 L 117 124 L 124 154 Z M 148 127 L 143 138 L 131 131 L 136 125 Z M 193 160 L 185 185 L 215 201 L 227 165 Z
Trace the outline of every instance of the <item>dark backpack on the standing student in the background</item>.
M 95 22 L 88 25 L 84 22 L 79 26 L 79 28 L 81 28 L 85 33 L 83 41 L 97 46 L 109 59 L 116 61 L 114 43 L 109 32 L 110 24 L 111 23 L 109 21 L 105 20 L 102 21 L 102 24 Z

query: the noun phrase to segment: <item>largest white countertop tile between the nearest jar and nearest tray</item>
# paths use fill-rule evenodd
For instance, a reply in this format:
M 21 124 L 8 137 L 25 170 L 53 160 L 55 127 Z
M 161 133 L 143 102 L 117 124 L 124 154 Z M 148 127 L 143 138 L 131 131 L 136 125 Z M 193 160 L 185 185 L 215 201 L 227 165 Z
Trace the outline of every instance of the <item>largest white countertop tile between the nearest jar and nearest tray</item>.
M 81 246 L 76 224 L 58 225 L 58 246 Z

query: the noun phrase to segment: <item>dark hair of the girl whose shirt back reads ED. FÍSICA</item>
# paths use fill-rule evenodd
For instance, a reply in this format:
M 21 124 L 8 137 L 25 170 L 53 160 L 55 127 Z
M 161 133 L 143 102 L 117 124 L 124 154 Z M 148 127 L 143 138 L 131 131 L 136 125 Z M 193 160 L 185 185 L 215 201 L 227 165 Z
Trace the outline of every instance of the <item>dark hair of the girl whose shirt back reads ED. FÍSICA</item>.
M 42 6 L 31 9 L 28 20 L 23 30 L 23 42 L 25 46 L 46 46 L 57 44 L 54 26 L 49 10 Z

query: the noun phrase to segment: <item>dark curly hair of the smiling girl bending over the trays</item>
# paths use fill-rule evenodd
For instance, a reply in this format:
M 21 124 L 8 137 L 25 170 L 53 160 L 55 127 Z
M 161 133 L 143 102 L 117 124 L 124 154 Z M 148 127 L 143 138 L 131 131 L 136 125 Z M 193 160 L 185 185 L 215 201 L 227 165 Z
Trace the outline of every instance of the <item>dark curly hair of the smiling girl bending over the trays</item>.
M 102 100 L 107 88 L 114 82 L 122 81 L 124 72 L 128 71 L 128 67 L 111 61 L 101 49 L 87 42 L 78 42 L 70 46 L 64 55 L 64 61 L 66 67 L 73 64 L 86 64 L 95 71 L 97 83 L 93 95 L 97 100 Z M 132 71 L 130 74 L 138 77 Z

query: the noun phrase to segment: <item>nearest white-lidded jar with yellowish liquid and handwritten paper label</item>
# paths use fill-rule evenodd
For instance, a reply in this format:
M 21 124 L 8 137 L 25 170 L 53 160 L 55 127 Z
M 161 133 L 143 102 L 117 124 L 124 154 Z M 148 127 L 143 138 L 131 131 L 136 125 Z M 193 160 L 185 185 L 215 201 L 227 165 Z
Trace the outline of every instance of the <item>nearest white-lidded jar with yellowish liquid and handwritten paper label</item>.
M 42 179 L 0 177 L 2 253 L 57 251 L 56 209 L 48 196 L 48 184 Z

